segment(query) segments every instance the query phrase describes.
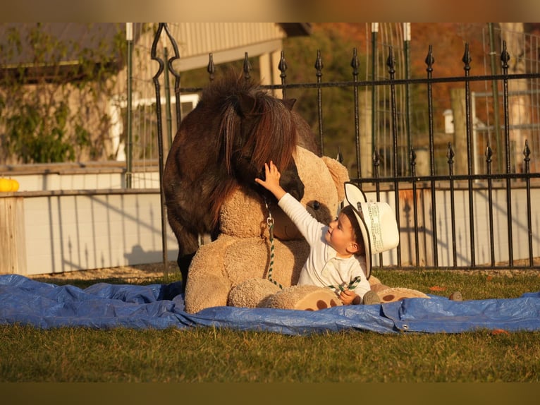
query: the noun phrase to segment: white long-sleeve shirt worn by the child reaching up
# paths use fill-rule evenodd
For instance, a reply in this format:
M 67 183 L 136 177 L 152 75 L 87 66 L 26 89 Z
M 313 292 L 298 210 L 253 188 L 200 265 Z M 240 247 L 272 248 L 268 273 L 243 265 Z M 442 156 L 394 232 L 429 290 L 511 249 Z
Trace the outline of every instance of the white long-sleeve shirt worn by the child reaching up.
M 283 195 L 278 204 L 309 244 L 309 256 L 300 272 L 298 284 L 331 287 L 339 294 L 340 287 L 347 288 L 355 277 L 360 277 L 353 291 L 362 298 L 370 289 L 363 270 L 366 267 L 364 255 L 338 258 L 336 250 L 324 238 L 329 229 L 327 225 L 314 219 L 289 193 Z

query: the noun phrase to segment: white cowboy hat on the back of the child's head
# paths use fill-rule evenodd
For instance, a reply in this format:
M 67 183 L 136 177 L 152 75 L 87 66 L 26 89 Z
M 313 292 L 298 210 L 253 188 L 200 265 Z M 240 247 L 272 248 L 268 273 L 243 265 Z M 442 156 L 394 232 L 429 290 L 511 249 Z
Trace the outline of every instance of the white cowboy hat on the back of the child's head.
M 390 205 L 381 201 L 368 202 L 355 183 L 345 182 L 343 205 L 351 205 L 362 231 L 366 251 L 366 277 L 372 275 L 372 255 L 391 250 L 400 243 L 398 222 Z

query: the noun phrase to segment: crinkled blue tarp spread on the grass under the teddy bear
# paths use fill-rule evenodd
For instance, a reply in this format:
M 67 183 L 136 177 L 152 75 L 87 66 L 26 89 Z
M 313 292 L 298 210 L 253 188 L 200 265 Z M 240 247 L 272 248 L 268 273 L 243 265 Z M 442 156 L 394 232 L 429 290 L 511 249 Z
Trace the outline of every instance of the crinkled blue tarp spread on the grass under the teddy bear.
M 0 324 L 39 328 L 90 327 L 164 329 L 228 327 L 235 330 L 312 334 L 366 330 L 380 333 L 458 333 L 477 329 L 540 330 L 540 292 L 519 298 L 450 301 L 406 298 L 372 306 L 318 311 L 215 307 L 186 313 L 180 284 L 99 283 L 75 286 L 0 276 Z

